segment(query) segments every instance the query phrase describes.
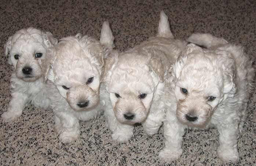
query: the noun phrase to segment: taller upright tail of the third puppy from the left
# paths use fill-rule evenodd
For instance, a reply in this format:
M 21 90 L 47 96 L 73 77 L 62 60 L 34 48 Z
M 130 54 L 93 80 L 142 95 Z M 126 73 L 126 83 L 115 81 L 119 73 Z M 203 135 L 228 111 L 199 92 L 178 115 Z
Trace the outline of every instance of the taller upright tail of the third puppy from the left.
M 160 21 L 158 25 L 158 35 L 159 37 L 165 37 L 165 38 L 172 38 L 174 39 L 174 36 L 172 32 L 170 32 L 170 25 L 168 21 L 168 17 L 162 10 L 160 13 Z

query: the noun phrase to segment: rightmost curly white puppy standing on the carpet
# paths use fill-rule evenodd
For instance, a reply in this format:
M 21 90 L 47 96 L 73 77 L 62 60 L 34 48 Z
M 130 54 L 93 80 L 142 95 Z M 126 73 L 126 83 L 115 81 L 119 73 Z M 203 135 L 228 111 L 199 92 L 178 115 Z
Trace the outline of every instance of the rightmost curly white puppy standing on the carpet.
M 174 77 L 166 83 L 165 148 L 159 156 L 166 161 L 180 157 L 185 128 L 214 125 L 220 133 L 219 157 L 237 162 L 254 78 L 252 61 L 241 46 L 209 34 L 193 34 L 188 42 L 208 49 L 188 44 L 173 66 Z

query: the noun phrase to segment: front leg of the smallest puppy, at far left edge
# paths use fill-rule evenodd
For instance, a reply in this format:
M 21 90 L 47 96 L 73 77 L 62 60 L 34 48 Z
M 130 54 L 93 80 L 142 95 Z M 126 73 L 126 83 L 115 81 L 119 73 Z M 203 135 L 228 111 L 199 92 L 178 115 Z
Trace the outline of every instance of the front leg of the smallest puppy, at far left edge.
M 8 111 L 2 115 L 4 122 L 11 122 L 22 115 L 23 109 L 28 102 L 28 96 L 23 93 L 14 92 L 9 103 Z

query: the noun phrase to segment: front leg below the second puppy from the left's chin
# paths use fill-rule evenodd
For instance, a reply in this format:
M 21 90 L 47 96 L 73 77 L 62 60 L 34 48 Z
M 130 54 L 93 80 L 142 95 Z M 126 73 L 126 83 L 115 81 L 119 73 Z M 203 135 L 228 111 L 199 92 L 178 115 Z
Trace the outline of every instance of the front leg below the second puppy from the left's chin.
M 62 143 L 71 143 L 80 136 L 78 119 L 67 112 L 55 114 L 55 129 L 59 133 L 59 140 Z

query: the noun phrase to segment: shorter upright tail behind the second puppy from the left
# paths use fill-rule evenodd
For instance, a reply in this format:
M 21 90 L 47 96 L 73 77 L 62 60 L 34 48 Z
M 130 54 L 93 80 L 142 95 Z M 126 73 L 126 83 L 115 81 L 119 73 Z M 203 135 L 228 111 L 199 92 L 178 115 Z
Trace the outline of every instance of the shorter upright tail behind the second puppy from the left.
M 100 34 L 100 43 L 108 49 L 114 48 L 114 36 L 108 21 L 104 21 Z

